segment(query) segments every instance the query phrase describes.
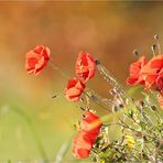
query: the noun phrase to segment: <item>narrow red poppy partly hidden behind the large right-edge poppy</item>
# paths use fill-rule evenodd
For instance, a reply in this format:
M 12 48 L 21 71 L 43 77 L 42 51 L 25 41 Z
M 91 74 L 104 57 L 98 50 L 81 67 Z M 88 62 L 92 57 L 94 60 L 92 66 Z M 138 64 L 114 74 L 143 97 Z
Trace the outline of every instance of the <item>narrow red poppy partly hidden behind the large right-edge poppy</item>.
M 145 56 L 140 57 L 137 62 L 130 65 L 130 77 L 127 79 L 128 85 L 144 85 L 144 79 L 142 78 L 140 70 L 146 64 Z

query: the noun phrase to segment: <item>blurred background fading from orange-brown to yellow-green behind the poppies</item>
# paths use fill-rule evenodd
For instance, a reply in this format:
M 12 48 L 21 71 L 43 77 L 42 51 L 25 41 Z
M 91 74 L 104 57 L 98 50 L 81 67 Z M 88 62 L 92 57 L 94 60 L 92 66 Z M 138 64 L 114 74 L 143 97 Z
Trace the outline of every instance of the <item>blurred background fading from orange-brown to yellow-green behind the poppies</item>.
M 64 98 L 67 78 L 59 72 L 48 65 L 36 77 L 26 74 L 28 51 L 48 46 L 53 63 L 72 77 L 77 53 L 89 52 L 126 86 L 132 51 L 152 56 L 155 34 L 163 44 L 162 19 L 163 2 L 0 2 L 0 162 L 45 154 L 54 161 L 82 113 Z M 98 73 L 88 86 L 109 96 Z M 74 161 L 69 152 L 66 161 Z

